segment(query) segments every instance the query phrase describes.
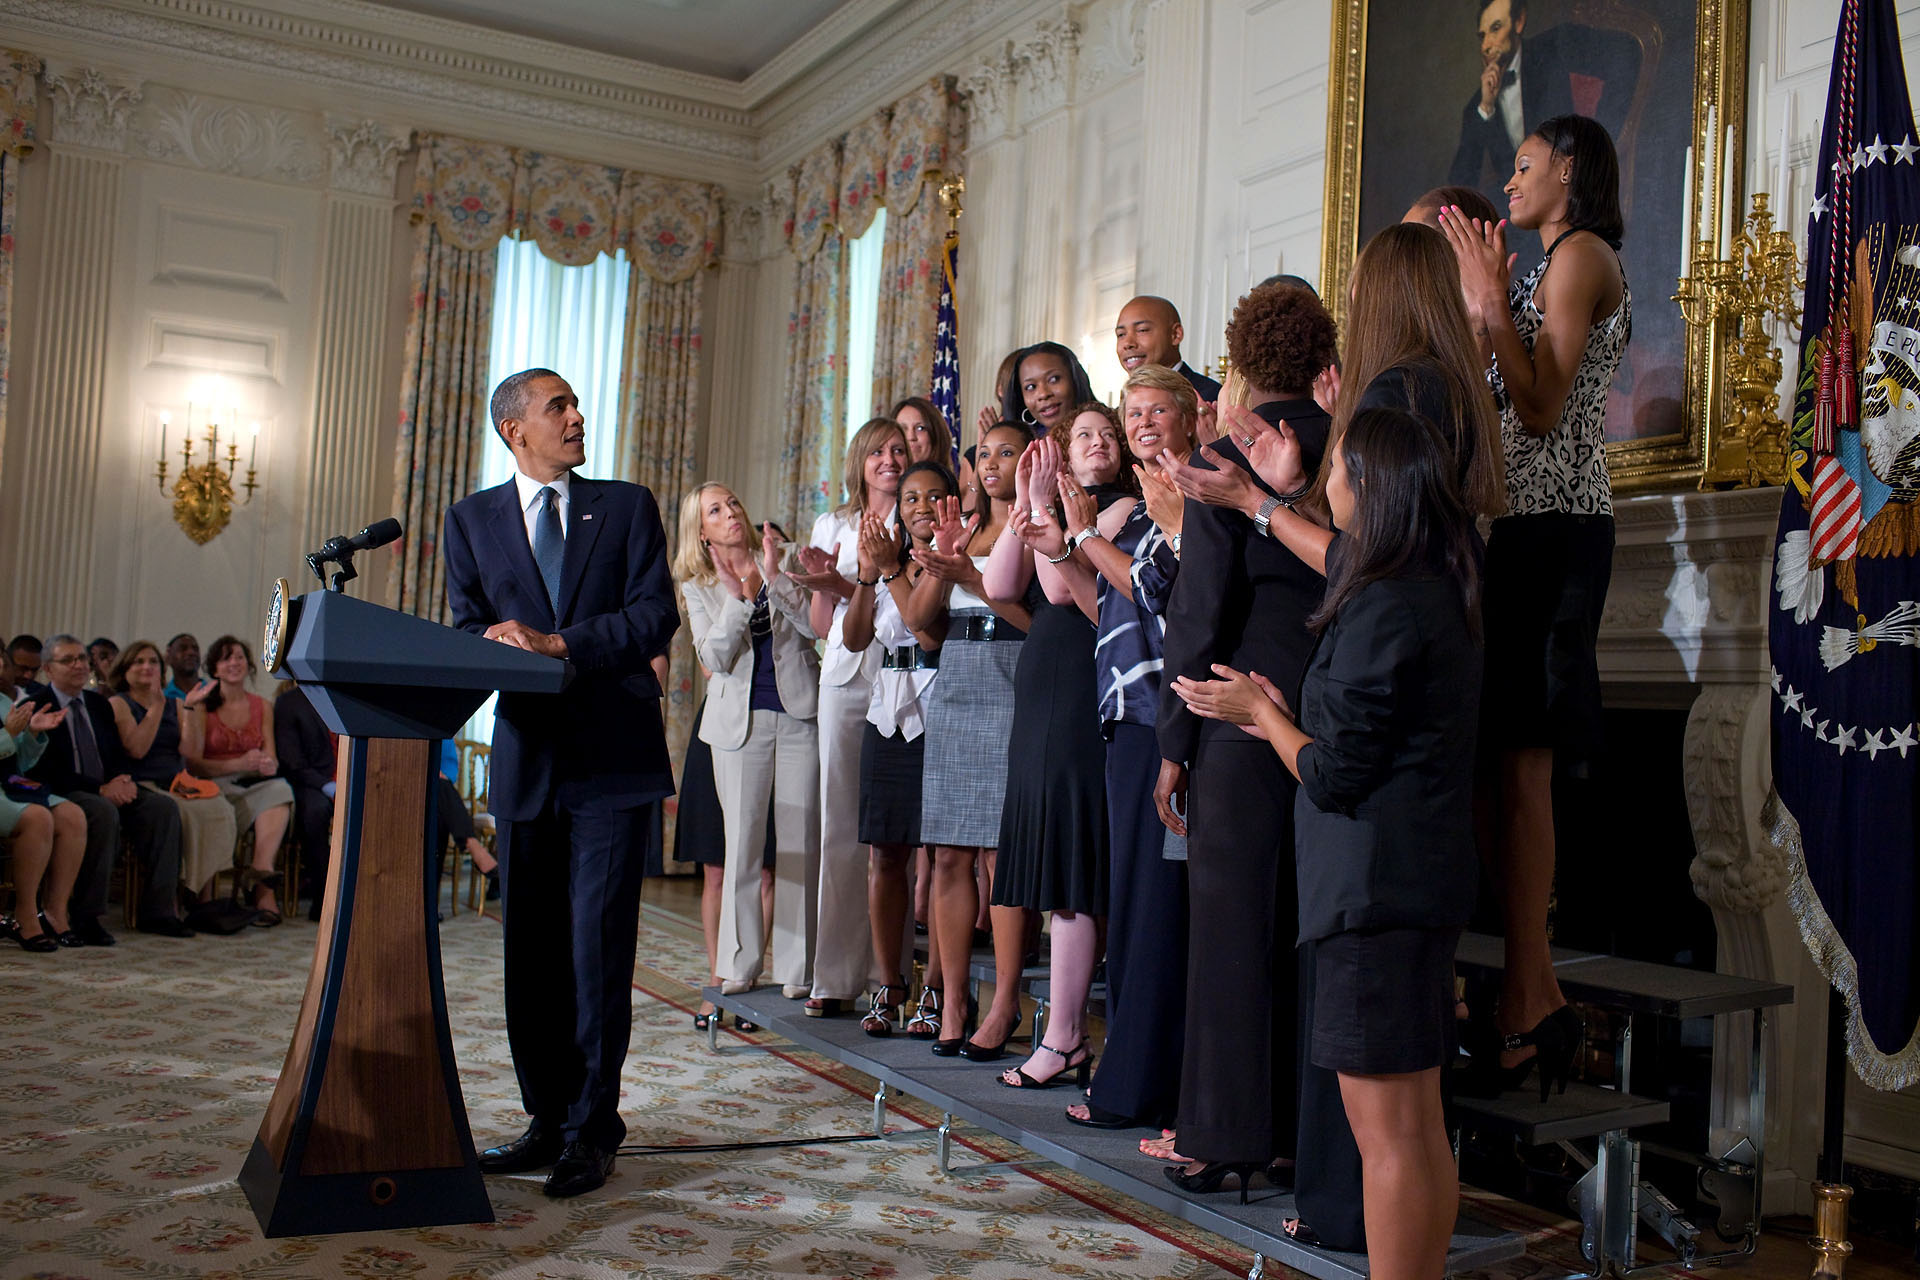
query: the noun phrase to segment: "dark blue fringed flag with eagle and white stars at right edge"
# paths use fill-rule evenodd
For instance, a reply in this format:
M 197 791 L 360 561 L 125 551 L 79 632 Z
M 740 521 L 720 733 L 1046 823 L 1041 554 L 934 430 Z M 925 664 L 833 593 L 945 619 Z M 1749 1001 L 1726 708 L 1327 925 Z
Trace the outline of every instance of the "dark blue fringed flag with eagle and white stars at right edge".
M 1920 138 L 1893 0 L 1843 0 L 1774 549 L 1768 831 L 1847 1050 L 1920 1080 Z

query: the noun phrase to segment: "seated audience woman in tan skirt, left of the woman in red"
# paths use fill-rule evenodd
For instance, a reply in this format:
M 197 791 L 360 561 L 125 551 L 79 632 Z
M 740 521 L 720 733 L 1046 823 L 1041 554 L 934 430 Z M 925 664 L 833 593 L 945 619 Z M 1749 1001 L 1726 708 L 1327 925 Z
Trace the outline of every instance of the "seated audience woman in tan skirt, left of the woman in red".
M 180 810 L 180 883 L 202 902 L 213 896 L 213 877 L 234 862 L 234 810 L 219 794 L 188 794 L 188 783 L 175 787 L 186 771 L 180 754 L 180 700 L 161 689 L 165 666 L 159 645 L 134 641 L 111 672 L 113 727 L 127 771 L 146 791 L 167 794 Z M 202 787 L 205 783 L 200 783 Z

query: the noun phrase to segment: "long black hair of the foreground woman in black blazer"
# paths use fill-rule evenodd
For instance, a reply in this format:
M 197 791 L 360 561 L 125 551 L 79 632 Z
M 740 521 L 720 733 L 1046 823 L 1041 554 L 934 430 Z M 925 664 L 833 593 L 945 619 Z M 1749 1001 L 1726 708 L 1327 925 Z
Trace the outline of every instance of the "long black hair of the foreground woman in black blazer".
M 1327 595 L 1308 628 L 1325 631 L 1375 581 L 1446 578 L 1459 587 L 1467 628 L 1478 639 L 1480 557 L 1440 428 L 1417 413 L 1367 409 L 1332 447 L 1346 462 L 1356 518 L 1342 530 L 1352 541 L 1334 557 Z

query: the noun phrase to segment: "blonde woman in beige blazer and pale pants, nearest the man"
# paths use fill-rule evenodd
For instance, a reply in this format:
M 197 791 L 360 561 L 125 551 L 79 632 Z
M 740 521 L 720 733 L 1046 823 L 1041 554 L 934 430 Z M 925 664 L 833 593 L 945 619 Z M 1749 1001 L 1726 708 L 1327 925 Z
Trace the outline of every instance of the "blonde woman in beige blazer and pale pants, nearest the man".
M 772 804 L 774 981 L 799 1000 L 810 990 L 820 862 L 820 658 L 806 591 L 780 572 L 772 526 L 755 532 L 724 484 L 703 484 L 680 505 L 674 574 L 693 652 L 712 672 L 701 741 L 714 752 L 726 823 L 720 986 L 733 994 L 760 979 L 760 865 Z

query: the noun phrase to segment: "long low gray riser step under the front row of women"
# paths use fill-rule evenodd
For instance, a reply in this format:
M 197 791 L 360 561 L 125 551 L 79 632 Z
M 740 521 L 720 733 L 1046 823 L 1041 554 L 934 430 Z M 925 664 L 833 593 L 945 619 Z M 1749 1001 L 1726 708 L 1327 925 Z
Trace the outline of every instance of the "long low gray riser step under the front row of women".
M 1236 1186 L 1215 1196 L 1185 1196 L 1167 1182 L 1160 1161 L 1140 1155 L 1139 1140 L 1148 1130 L 1100 1130 L 1068 1123 L 1066 1107 L 1081 1100 L 1071 1084 L 1048 1090 L 1006 1088 L 998 1075 L 1020 1065 L 1020 1055 L 991 1065 L 935 1057 L 925 1040 L 904 1034 L 868 1036 L 860 1031 L 858 1017 L 804 1017 L 793 1002 L 780 996 L 778 986 L 743 996 L 722 996 L 718 988 L 703 994 L 716 1007 L 747 1017 L 801 1048 L 862 1071 L 954 1119 L 1294 1270 L 1321 1280 L 1359 1280 L 1367 1274 L 1363 1255 L 1309 1249 L 1281 1232 L 1281 1222 L 1294 1213 L 1290 1194 L 1273 1192 L 1261 1182 L 1246 1205 L 1238 1201 Z M 1484 1268 L 1524 1251 L 1523 1236 L 1461 1219 L 1448 1270 Z

